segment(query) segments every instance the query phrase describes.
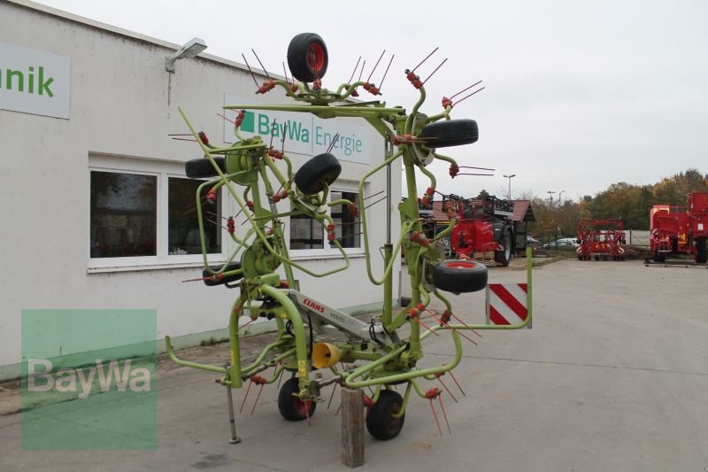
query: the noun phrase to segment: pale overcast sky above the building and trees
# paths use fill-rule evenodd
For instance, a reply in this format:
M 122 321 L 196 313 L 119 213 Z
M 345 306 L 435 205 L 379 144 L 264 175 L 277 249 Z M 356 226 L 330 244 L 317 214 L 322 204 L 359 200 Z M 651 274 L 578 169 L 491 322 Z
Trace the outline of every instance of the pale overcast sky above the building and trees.
M 421 112 L 441 112 L 443 96 L 482 81 L 485 89 L 451 113 L 476 120 L 479 141 L 443 153 L 460 166 L 495 169 L 451 180 L 448 165 L 435 162 L 429 169 L 443 193 L 502 196 L 504 174 L 514 174 L 514 198 L 577 201 L 612 183 L 652 184 L 689 168 L 708 174 L 703 0 L 38 3 L 175 44 L 199 36 L 206 53 L 235 62 L 243 53 L 256 64 L 254 49 L 279 74 L 290 39 L 317 33 L 327 44 L 327 89 L 349 81 L 359 57 L 366 79 L 385 50 L 371 81 L 381 84 L 395 55 L 379 98 L 408 110 L 418 93 L 404 70 L 437 47 L 416 70 L 429 77 Z

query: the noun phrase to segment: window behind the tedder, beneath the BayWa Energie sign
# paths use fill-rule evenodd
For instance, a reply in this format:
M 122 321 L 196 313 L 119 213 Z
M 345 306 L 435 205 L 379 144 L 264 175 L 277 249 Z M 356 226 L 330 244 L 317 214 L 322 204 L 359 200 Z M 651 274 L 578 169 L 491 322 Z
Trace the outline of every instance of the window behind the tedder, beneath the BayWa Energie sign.
M 341 199 L 356 202 L 358 193 L 344 190 L 330 191 L 329 201 L 334 202 Z M 361 248 L 361 224 L 359 217 L 350 212 L 349 206 L 332 206 L 329 208 L 329 213 L 335 221 L 335 237 L 342 247 L 347 249 Z M 305 215 L 290 217 L 290 250 L 321 250 L 319 253 L 322 255 L 334 255 L 335 252 L 339 252 L 328 244 L 327 233 L 319 221 Z M 312 251 L 307 253 L 312 255 Z

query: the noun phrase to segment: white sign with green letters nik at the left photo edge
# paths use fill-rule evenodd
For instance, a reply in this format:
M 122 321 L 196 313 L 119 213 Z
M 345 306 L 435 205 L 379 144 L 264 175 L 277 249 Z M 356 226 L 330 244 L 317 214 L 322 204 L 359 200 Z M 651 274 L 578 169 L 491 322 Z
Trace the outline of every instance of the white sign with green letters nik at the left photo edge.
M 71 59 L 0 42 L 0 108 L 69 118 Z

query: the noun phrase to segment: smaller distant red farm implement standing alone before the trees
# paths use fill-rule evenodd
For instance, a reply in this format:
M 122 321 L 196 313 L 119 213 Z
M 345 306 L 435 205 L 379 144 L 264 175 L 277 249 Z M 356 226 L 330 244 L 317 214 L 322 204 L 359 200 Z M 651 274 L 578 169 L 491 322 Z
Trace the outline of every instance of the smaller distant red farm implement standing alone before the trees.
M 578 260 L 624 260 L 625 232 L 621 218 L 578 221 Z

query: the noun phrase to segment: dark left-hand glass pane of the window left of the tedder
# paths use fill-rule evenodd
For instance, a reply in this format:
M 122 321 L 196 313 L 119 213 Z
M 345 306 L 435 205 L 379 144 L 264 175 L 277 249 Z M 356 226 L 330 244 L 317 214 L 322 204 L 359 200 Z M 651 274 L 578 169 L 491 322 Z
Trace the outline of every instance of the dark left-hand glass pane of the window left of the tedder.
M 91 173 L 91 257 L 155 256 L 158 178 Z

